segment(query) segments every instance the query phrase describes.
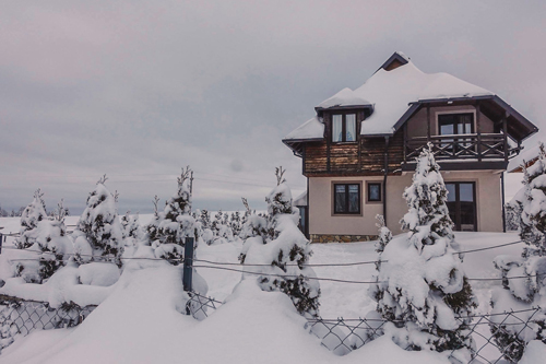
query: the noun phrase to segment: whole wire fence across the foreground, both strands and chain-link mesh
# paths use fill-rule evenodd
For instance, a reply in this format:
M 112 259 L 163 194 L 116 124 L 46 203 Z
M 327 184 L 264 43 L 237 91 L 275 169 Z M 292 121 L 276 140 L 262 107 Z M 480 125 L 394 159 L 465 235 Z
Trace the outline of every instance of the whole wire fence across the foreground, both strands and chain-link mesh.
M 521 244 L 522 240 L 499 244 L 489 247 L 483 247 L 477 249 L 470 249 L 458 251 L 455 254 L 468 254 L 483 251 L 488 249 L 496 249 L 509 245 Z M 191 244 L 193 246 L 193 244 Z M 3 247 L 4 249 L 15 249 L 15 247 Z M 25 249 L 27 251 L 34 251 L 41 254 L 38 250 Z M 191 256 L 191 255 L 190 255 Z M 96 261 L 102 261 L 102 257 L 93 257 Z M 105 262 L 108 262 L 107 257 Z M 121 260 L 161 260 L 162 258 L 152 257 L 121 257 Z M 38 259 L 13 259 L 13 260 L 38 260 Z M 178 259 L 182 262 L 185 259 Z M 195 265 L 197 262 L 197 265 Z M 320 265 L 308 265 L 309 267 L 347 267 L 347 266 L 364 266 L 364 265 L 376 265 L 379 261 L 355 261 L 355 262 L 333 262 L 333 263 L 320 263 Z M 381 263 L 388 262 L 387 260 L 380 261 Z M 197 258 L 186 258 L 186 263 L 188 268 L 199 268 L 199 269 L 216 269 L 224 271 L 235 271 L 245 274 L 254 275 L 273 275 L 290 278 L 295 275 L 286 274 L 271 274 L 262 271 L 252 271 L 252 267 L 270 267 L 271 265 L 240 265 L 238 262 L 218 262 L 205 259 Z M 237 267 L 234 267 L 237 266 Z M 536 274 L 542 275 L 542 274 Z M 522 275 L 522 277 L 510 277 L 510 278 L 468 278 L 471 281 L 502 281 L 506 279 L 529 279 L 534 275 Z M 378 283 L 377 280 L 369 281 L 351 281 L 343 279 L 333 278 L 306 278 L 314 279 L 318 281 L 332 281 L 339 283 L 352 283 L 352 284 L 372 284 Z M 204 296 L 200 293 L 190 291 L 187 292 L 189 300 L 186 305 L 186 314 L 191 315 L 197 320 L 203 320 L 217 309 L 222 302 Z M 73 327 L 81 324 L 95 308 L 96 306 L 80 307 L 74 304 L 66 304 L 57 309 L 51 308 L 45 302 L 35 301 L 24 301 L 15 297 L 8 297 L 0 295 L 0 350 L 9 345 L 16 334 L 26 336 L 31 331 L 36 329 L 55 329 L 63 327 Z M 464 322 L 466 330 L 464 330 L 465 338 L 472 338 L 475 343 L 475 350 L 473 351 L 473 357 L 471 362 L 479 361 L 483 363 L 498 363 L 501 360 L 509 360 L 511 362 L 517 362 L 522 354 L 522 348 L 524 343 L 521 341 L 503 341 L 499 338 L 502 337 L 513 337 L 514 331 L 515 337 L 526 329 L 532 329 L 536 331 L 537 322 L 533 319 L 536 313 L 541 308 L 533 308 L 522 318 L 520 315 L 522 312 L 507 312 L 495 315 L 475 315 L 472 317 L 458 317 L 456 319 Z M 494 319 L 491 317 L 496 316 Z M 310 333 L 314 334 L 320 339 L 321 345 L 334 352 L 337 355 L 345 355 L 354 350 L 361 348 L 368 342 L 379 338 L 384 334 L 385 327 L 388 326 L 387 320 L 376 318 L 355 318 L 355 319 L 324 319 L 320 317 L 308 318 L 306 329 Z M 397 326 L 403 326 L 404 322 L 395 322 Z M 461 339 L 465 339 L 461 338 Z M 408 349 L 408 348 L 406 348 Z M 455 355 L 452 352 L 451 355 Z M 470 362 L 468 362 L 470 363 Z

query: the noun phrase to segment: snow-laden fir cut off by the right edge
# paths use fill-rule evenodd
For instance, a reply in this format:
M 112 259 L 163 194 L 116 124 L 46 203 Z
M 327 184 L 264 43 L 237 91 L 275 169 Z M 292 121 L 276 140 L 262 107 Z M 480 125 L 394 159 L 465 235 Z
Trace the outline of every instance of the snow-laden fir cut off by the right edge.
M 521 257 L 498 256 L 495 267 L 502 287 L 491 294 L 492 314 L 515 310 L 506 321 L 491 316 L 491 333 L 503 348 L 505 359 L 518 362 L 532 340 L 546 344 L 546 150 L 539 145 L 537 161 L 523 167 L 524 196 L 514 198 L 520 211 L 520 237 L 525 243 Z M 521 279 L 526 277 L 526 279 Z M 532 308 L 542 307 L 538 312 Z M 522 322 L 527 322 L 522 325 Z M 519 325 L 518 325 L 519 324 Z

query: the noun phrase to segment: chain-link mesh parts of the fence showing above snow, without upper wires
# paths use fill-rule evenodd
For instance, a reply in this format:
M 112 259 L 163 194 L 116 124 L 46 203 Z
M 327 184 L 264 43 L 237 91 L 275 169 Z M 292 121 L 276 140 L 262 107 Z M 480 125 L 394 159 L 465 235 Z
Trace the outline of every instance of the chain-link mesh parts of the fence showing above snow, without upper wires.
M 204 320 L 212 315 L 222 302 L 188 292 L 189 300 L 186 314 L 197 320 Z M 73 303 L 52 308 L 46 302 L 27 301 L 0 295 L 0 352 L 10 345 L 17 334 L 27 336 L 34 330 L 70 328 L 80 325 L 96 306 L 80 307 Z M 475 350 L 468 363 L 499 363 L 501 360 L 518 362 L 523 353 L 524 342 L 502 340 L 508 337 L 520 337 L 524 330 L 536 331 L 534 319 L 542 308 L 512 310 L 490 315 L 472 315 L 456 317 L 460 324 L 466 325 L 461 339 L 472 337 Z M 522 315 L 523 314 L 523 315 Z M 468 324 L 470 321 L 470 324 Z M 336 355 L 346 355 L 370 341 L 384 334 L 388 320 L 381 318 L 307 318 L 306 329 L 320 339 L 322 347 Z M 393 322 L 403 326 L 403 321 Z M 408 348 L 406 348 L 408 349 Z M 455 351 L 450 355 L 455 355 Z

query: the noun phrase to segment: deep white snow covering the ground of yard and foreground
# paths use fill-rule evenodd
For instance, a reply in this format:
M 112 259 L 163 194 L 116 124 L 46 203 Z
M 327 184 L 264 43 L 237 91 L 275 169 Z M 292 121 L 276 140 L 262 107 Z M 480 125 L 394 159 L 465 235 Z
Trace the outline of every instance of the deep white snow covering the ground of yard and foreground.
M 147 221 L 142 216 L 142 222 Z M 73 222 L 71 220 L 74 220 Z M 75 224 L 78 216 L 68 218 Z M 19 218 L 0 219 L 2 233 L 19 231 Z M 462 250 L 519 240 L 515 233 L 458 233 Z M 241 246 L 201 245 L 197 259 L 237 263 Z M 497 278 L 497 255 L 519 255 L 522 244 L 468 253 L 464 269 L 468 278 Z M 347 263 L 377 259 L 373 243 L 312 245 L 311 265 Z M 9 254 L 4 250 L 2 255 Z M 195 263 L 198 265 L 198 263 Z M 233 266 L 228 268 L 238 269 Z M 369 281 L 375 266 L 313 267 L 319 278 Z M 198 268 L 209 284 L 207 295 L 226 301 L 203 321 L 180 315 L 176 302 L 181 290 L 180 270 L 151 268 L 131 273 L 79 327 L 34 331 L 19 338 L 0 355 L 0 363 L 442 363 L 443 356 L 405 352 L 389 338 L 380 338 L 346 356 L 320 347 L 320 340 L 304 329 L 289 298 L 265 293 L 256 284 L 239 284 L 241 274 L 215 268 Z M 358 318 L 375 309 L 368 284 L 321 281 L 320 315 L 323 318 Z M 478 313 L 489 310 L 490 290 L 499 281 L 472 281 L 479 302 Z M 484 333 L 488 327 L 484 326 Z M 536 345 L 531 354 L 546 355 Z M 531 356 L 527 357 L 531 360 Z M 531 362 L 531 361 L 529 361 Z

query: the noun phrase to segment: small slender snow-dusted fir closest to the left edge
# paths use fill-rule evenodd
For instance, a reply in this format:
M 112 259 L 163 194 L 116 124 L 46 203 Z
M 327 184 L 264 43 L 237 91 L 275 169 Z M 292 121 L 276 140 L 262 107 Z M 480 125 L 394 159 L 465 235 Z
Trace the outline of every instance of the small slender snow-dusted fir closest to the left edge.
M 38 188 L 34 192 L 33 201 L 21 214 L 20 236 L 15 239 L 17 248 L 25 249 L 36 243 L 34 230 L 38 227 L 38 223 L 43 220 L 47 220 L 46 202 L 44 201 L 44 192 Z

